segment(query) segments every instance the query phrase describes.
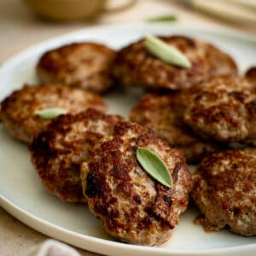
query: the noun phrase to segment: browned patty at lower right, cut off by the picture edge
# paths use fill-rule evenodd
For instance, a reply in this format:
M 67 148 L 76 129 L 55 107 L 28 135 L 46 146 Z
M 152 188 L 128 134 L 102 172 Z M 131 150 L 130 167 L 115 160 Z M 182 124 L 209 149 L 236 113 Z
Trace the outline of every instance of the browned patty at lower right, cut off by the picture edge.
M 256 235 L 256 149 L 216 151 L 193 175 L 191 196 L 207 231 Z

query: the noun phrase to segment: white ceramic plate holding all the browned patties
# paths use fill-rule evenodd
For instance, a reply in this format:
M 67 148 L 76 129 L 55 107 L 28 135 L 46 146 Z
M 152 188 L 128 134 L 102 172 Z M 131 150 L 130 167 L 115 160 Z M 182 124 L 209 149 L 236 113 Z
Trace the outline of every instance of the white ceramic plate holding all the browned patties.
M 186 34 L 218 45 L 236 59 L 241 71 L 256 64 L 256 43 L 234 32 L 174 25 L 131 24 L 73 32 L 16 55 L 0 69 L 0 101 L 25 82 L 36 82 L 34 67 L 45 50 L 74 41 L 89 40 L 119 48 L 144 34 Z M 137 102 L 133 93 L 107 97 L 110 112 L 127 115 Z M 206 234 L 193 224 L 195 209 L 180 219 L 172 240 L 163 247 L 133 246 L 108 236 L 84 205 L 63 203 L 44 191 L 30 162 L 26 146 L 10 138 L 0 126 L 0 203 L 20 221 L 42 233 L 96 253 L 108 255 L 255 255 L 256 238 L 227 231 Z

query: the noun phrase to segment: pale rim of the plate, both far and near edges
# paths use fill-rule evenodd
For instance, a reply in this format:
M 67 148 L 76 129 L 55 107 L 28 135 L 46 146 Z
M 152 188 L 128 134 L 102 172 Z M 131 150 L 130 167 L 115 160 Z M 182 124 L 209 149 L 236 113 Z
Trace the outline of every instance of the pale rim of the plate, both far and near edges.
M 89 34 L 92 32 L 100 32 L 102 30 L 104 31 L 108 31 L 108 30 L 119 30 L 119 29 L 130 29 L 131 30 L 131 26 L 134 26 L 135 28 L 139 27 L 139 28 L 145 28 L 147 29 L 147 27 L 163 27 L 166 26 L 168 27 L 168 31 L 167 32 L 172 32 L 172 28 L 173 29 L 177 29 L 177 28 L 181 28 L 181 29 L 185 29 L 188 31 L 191 30 L 197 30 L 197 31 L 203 31 L 203 32 L 215 32 L 218 34 L 223 34 L 225 36 L 229 36 L 229 37 L 233 37 L 233 38 L 239 38 L 241 40 L 246 40 L 249 42 L 252 42 L 256 45 L 256 38 L 254 38 L 252 35 L 249 35 L 247 33 L 244 32 L 239 32 L 236 31 L 234 29 L 230 29 L 230 28 L 223 28 L 223 27 L 219 27 L 219 26 L 198 26 L 196 25 L 196 23 L 194 24 L 188 24 L 187 22 L 177 22 L 175 24 L 152 24 L 152 23 L 145 23 L 145 22 L 131 22 L 129 24 L 124 23 L 124 24 L 119 24 L 119 25 L 104 25 L 104 26 L 90 26 L 89 28 L 84 28 L 84 29 L 79 29 L 73 32 L 68 32 L 65 33 L 61 36 L 57 36 L 54 38 L 49 38 L 47 40 L 44 40 L 38 44 L 33 44 L 32 46 L 23 49 L 20 51 L 20 53 L 15 54 L 13 56 L 11 56 L 8 60 L 3 61 L 1 67 L 0 67 L 0 77 L 2 76 L 2 74 L 5 72 L 5 70 L 7 70 L 8 68 L 11 68 L 13 65 L 15 65 L 15 62 L 19 62 L 20 59 L 24 59 L 26 58 L 27 55 L 31 55 L 31 52 L 35 52 L 35 51 L 42 51 L 42 47 L 46 48 L 49 45 L 55 44 L 56 42 L 62 42 L 62 41 L 68 41 L 67 38 L 72 38 L 73 36 L 79 35 L 79 33 L 85 34 L 85 32 L 88 32 Z M 85 36 L 84 36 L 85 37 Z M 76 37 L 74 37 L 73 41 L 76 40 Z M 84 41 L 86 41 L 88 39 L 86 39 L 86 37 L 84 38 Z M 64 43 L 65 44 L 65 43 Z M 255 63 L 256 66 L 256 63 Z M 0 192 L 1 193 L 1 192 Z M 203 249 L 203 250 L 198 250 L 195 249 L 193 251 L 183 251 L 180 249 L 169 249 L 169 248 L 165 248 L 165 247 L 145 247 L 145 246 L 137 246 L 137 245 L 131 245 L 131 244 L 124 244 L 121 243 L 119 241 L 108 241 L 102 238 L 98 238 L 95 236 L 89 236 L 89 235 L 84 235 L 84 234 L 79 234 L 78 232 L 72 231 L 72 230 L 68 230 L 66 228 L 63 228 L 61 226 L 58 226 L 56 224 L 52 224 L 49 221 L 46 221 L 42 218 L 38 218 L 37 216 L 33 215 L 31 212 L 26 212 L 26 210 L 22 209 L 21 207 L 19 207 L 18 205 L 16 205 L 14 202 L 10 201 L 6 196 L 0 194 L 0 206 L 3 207 L 3 209 L 5 209 L 7 212 L 9 212 L 11 215 L 13 215 L 15 218 L 18 218 L 22 223 L 25 223 L 26 225 L 32 227 L 32 229 L 34 230 L 38 230 L 39 232 L 47 235 L 47 236 L 51 236 L 54 237 L 55 239 L 61 240 L 61 241 L 65 241 L 68 242 L 67 238 L 62 238 L 60 239 L 60 237 L 56 237 L 59 234 L 63 233 L 65 236 L 74 236 L 78 239 L 84 239 L 86 238 L 86 240 L 88 242 L 93 241 L 94 245 L 101 245 L 104 244 L 104 247 L 111 247 L 111 248 L 115 248 L 115 249 L 124 249 L 128 250 L 128 251 L 132 251 L 132 252 L 143 252 L 143 253 L 159 253 L 159 254 L 163 254 L 166 255 L 166 253 L 168 254 L 172 254 L 172 255 L 205 255 L 205 253 L 211 253 L 212 255 L 218 255 L 220 253 L 223 253 L 223 255 L 228 255 L 227 253 L 234 253 L 234 250 L 236 251 L 236 253 L 246 253 L 246 250 L 256 250 L 256 243 L 254 244 L 247 244 L 247 245 L 240 245 L 240 246 L 235 246 L 235 247 L 223 247 L 223 248 L 212 248 L 212 249 Z M 27 220 L 26 220 L 27 218 Z M 48 231 L 45 231 L 42 228 L 35 228 L 34 225 L 29 224 L 29 220 L 32 219 L 32 221 L 34 223 L 36 223 L 38 226 L 41 225 L 45 225 L 45 227 L 47 227 L 50 231 L 57 231 L 57 234 L 55 236 L 55 234 L 49 234 Z M 43 230 L 43 231 L 42 231 Z M 78 243 L 72 243 L 74 246 L 77 247 L 81 247 Z M 85 250 L 86 248 L 83 247 Z M 90 250 L 87 248 L 87 250 Z M 96 253 L 102 253 L 102 250 L 98 250 L 97 247 L 94 247 L 93 250 L 90 250 L 91 252 L 96 252 Z M 231 255 L 231 254 L 230 254 Z

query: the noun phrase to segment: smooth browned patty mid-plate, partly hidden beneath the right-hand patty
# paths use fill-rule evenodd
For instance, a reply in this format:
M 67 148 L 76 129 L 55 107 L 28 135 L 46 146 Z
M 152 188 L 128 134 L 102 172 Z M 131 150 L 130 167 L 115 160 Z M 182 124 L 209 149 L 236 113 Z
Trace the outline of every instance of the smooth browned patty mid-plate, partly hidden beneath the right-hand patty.
M 131 110 L 131 121 L 151 128 L 157 137 L 170 146 L 183 150 L 189 164 L 198 163 L 203 156 L 218 146 L 195 137 L 180 117 L 180 94 L 147 94 Z

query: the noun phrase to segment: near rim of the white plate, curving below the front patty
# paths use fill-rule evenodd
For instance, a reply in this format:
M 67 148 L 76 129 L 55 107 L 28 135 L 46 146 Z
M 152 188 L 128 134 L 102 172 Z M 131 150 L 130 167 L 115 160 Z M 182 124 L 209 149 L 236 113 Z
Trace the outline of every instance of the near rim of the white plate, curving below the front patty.
M 46 236 L 55 238 L 60 241 L 67 242 L 76 247 L 80 247 L 80 245 L 77 244 L 76 242 L 70 243 L 68 241 L 68 237 L 60 239 L 57 236 L 61 233 L 64 233 L 64 235 L 75 236 L 78 239 L 83 239 L 85 237 L 88 240 L 88 242 L 93 241 L 95 243 L 95 245 L 102 246 L 102 243 L 103 243 L 104 247 L 111 246 L 114 248 L 121 248 L 121 249 L 124 249 L 124 247 L 125 247 L 125 249 L 128 249 L 129 251 L 131 250 L 134 252 L 143 251 L 143 253 L 161 253 L 163 255 L 166 255 L 166 253 L 168 253 L 169 255 L 180 255 L 180 256 L 181 255 L 183 255 L 183 256 L 189 256 L 189 255 L 202 256 L 202 255 L 205 255 L 206 253 L 211 253 L 211 255 L 219 255 L 219 253 L 224 253 L 223 255 L 230 255 L 227 253 L 234 253 L 234 251 L 236 251 L 236 253 L 240 253 L 240 252 L 246 253 L 245 249 L 246 250 L 253 250 L 253 249 L 256 250 L 256 243 L 241 245 L 241 246 L 236 246 L 236 247 L 193 250 L 191 252 L 189 252 L 187 250 L 169 249 L 169 248 L 165 248 L 165 247 L 149 247 L 149 246 L 138 246 L 138 245 L 133 245 L 133 244 L 125 244 L 120 241 L 109 241 L 109 240 L 105 240 L 103 238 L 98 238 L 95 236 L 79 234 L 73 230 L 68 230 L 68 229 L 60 227 L 56 224 L 52 224 L 47 220 L 38 218 L 37 216 L 33 215 L 31 212 L 27 212 L 26 210 L 22 209 L 21 207 L 15 205 L 15 203 L 10 201 L 9 199 L 3 198 L 3 195 L 0 195 L 0 203 L 1 203 L 1 207 L 3 207 L 3 209 L 5 209 L 7 212 L 9 212 L 15 218 L 19 219 L 21 223 L 26 224 L 27 226 L 31 227 L 33 230 L 38 230 L 40 233 L 42 233 Z M 26 221 L 27 217 L 29 218 L 28 221 Z M 38 228 L 34 228 L 34 226 L 29 223 L 30 219 L 32 219 L 32 221 L 38 225 L 44 224 L 48 230 L 42 231 L 42 230 L 39 230 Z M 49 233 L 51 231 L 57 231 L 57 233 L 52 235 Z M 80 248 L 83 248 L 84 250 L 88 250 L 85 247 L 80 247 Z M 98 250 L 98 252 L 96 250 L 90 251 L 90 252 L 102 253 L 102 249 Z

